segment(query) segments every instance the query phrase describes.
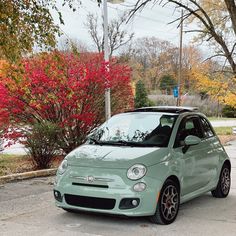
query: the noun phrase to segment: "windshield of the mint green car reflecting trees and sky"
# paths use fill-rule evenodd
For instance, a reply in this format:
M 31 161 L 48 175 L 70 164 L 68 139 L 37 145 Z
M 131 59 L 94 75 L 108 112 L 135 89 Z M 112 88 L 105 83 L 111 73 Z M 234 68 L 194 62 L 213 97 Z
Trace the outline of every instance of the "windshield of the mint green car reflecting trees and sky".
M 115 115 L 89 135 L 89 143 L 166 147 L 177 116 L 158 112 Z

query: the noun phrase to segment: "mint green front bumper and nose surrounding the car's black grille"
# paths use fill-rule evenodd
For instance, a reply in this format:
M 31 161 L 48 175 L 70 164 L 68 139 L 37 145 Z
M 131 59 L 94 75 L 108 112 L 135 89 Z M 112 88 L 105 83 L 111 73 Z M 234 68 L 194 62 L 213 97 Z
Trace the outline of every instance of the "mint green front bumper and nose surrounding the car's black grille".
M 86 179 L 83 180 L 83 176 L 91 174 L 107 181 L 95 180 L 89 183 Z M 133 190 L 133 186 L 138 182 L 146 184 L 147 187 L 143 192 Z M 62 176 L 57 175 L 54 194 L 55 191 L 60 193 L 61 198 L 56 200 L 56 206 L 61 208 L 126 216 L 148 216 L 155 213 L 160 189 L 161 183 L 157 179 L 147 175 L 141 180 L 131 181 L 126 177 L 124 169 L 69 167 Z M 135 203 L 133 200 L 137 201 L 137 206 L 132 206 Z M 124 205 L 126 207 L 123 207 Z

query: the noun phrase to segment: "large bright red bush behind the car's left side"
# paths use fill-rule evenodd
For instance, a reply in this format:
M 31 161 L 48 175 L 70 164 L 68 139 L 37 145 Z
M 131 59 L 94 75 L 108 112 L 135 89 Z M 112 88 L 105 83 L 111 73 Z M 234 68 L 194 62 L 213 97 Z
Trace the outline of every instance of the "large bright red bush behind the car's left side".
M 107 87 L 113 114 L 133 107 L 130 69 L 113 62 L 108 71 L 102 55 L 55 51 L 25 59 L 22 67 L 18 76 L 0 81 L 0 125 L 7 139 L 25 137 L 25 127 L 47 121 L 60 128 L 57 141 L 68 153 L 104 121 Z

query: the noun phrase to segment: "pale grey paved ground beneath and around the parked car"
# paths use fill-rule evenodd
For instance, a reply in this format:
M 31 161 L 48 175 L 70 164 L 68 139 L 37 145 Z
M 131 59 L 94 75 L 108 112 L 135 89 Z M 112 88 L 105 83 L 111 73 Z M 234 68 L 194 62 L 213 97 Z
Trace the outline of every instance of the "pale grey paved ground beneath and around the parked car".
M 226 199 L 206 194 L 181 205 L 168 226 L 146 218 L 67 213 L 54 206 L 53 178 L 0 186 L 0 235 L 236 235 L 236 142 L 226 150 L 232 161 L 232 188 Z

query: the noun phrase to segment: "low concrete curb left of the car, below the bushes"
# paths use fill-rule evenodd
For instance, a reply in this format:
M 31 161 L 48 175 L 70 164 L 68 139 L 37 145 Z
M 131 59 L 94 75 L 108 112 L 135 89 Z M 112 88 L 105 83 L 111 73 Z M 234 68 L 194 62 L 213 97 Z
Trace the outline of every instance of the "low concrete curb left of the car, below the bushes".
M 32 179 L 36 177 L 51 176 L 51 175 L 55 175 L 56 171 L 57 171 L 57 168 L 53 168 L 53 169 L 46 169 L 46 170 L 24 172 L 24 173 L 19 173 L 19 174 L 5 175 L 5 176 L 0 177 L 0 184 L 13 182 L 17 180 Z

